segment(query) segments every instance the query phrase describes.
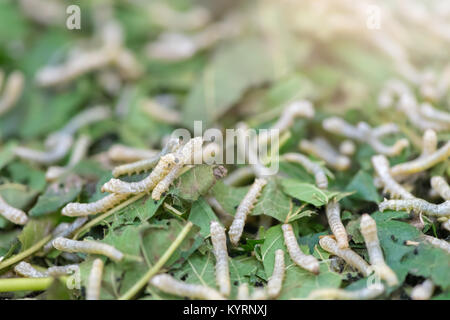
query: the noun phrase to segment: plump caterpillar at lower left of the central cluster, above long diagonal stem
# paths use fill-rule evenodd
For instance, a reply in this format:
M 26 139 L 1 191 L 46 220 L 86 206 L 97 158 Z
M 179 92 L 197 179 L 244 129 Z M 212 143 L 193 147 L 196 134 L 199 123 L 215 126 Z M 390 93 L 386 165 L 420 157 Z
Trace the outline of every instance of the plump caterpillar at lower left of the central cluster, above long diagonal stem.
M 61 214 L 68 217 L 80 217 L 104 212 L 128 197 L 128 194 L 110 194 L 91 203 L 71 202 L 61 210 Z

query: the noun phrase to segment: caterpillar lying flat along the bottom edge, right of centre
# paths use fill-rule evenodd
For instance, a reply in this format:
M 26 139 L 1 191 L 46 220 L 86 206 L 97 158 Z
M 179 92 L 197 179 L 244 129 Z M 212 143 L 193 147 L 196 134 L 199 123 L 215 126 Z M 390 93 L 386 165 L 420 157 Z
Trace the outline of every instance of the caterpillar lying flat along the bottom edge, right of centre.
M 384 292 L 384 286 L 381 283 L 373 284 L 359 290 L 344 290 L 337 288 L 316 289 L 312 291 L 308 300 L 367 300 L 374 299 Z

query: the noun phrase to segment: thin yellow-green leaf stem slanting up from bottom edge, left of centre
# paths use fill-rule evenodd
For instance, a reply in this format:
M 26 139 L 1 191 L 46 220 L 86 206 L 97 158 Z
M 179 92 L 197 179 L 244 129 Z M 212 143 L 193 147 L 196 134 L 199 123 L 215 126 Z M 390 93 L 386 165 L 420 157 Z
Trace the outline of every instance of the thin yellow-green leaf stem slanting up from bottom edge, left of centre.
M 156 262 L 156 264 L 151 267 L 147 273 L 139 279 L 136 284 L 131 287 L 124 295 L 122 295 L 119 300 L 129 300 L 133 298 L 145 285 L 148 281 L 164 266 L 164 264 L 170 259 L 175 250 L 180 246 L 183 242 L 184 238 L 186 238 L 187 234 L 191 230 L 193 224 L 188 221 L 188 223 L 184 226 L 183 230 L 178 234 L 177 238 L 170 245 L 170 247 L 164 252 L 162 257 Z

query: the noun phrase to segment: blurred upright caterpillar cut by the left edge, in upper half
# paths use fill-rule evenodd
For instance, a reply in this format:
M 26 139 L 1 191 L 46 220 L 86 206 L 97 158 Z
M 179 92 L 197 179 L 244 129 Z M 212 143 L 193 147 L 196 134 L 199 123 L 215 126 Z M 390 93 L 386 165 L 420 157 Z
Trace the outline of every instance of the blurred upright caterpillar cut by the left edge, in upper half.
M 4 74 L 0 70 L 0 90 L 3 84 Z M 22 95 L 23 87 L 25 84 L 25 77 L 20 71 L 14 71 L 8 77 L 5 88 L 3 89 L 0 97 L 0 116 L 8 112 Z

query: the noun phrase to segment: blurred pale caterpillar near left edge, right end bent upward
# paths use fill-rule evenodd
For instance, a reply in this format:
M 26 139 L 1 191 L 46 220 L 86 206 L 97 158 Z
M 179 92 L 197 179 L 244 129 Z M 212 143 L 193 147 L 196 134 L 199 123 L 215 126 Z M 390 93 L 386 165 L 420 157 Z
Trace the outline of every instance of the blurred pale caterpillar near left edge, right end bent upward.
M 22 159 L 49 165 L 64 158 L 73 144 L 73 138 L 68 134 L 56 134 L 47 141 L 46 151 L 16 147 L 14 153 Z

